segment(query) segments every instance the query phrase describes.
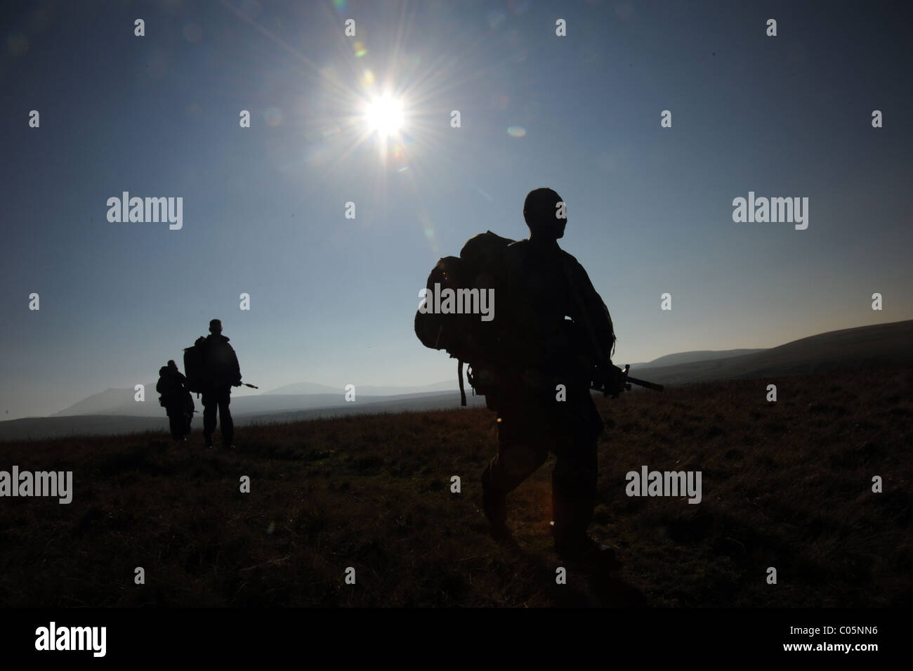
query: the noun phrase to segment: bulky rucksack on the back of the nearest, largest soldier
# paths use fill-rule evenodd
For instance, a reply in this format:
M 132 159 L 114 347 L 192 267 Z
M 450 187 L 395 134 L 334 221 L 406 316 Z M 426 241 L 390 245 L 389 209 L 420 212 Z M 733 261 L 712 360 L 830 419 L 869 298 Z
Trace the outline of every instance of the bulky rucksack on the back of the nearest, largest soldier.
M 469 238 L 459 257 L 438 260 L 425 286 L 425 311 L 419 309 L 415 312 L 415 335 L 422 344 L 433 350 L 445 350 L 457 360 L 457 379 L 463 405 L 466 405 L 463 365 L 468 362 L 479 366 L 498 360 L 503 345 L 499 341 L 500 324 L 497 319 L 481 320 L 479 314 L 434 311 L 436 288 L 439 294 L 446 289 L 455 294 L 459 289 L 477 289 L 479 293 L 494 289 L 497 299 L 498 290 L 503 287 L 504 250 L 512 242 L 488 231 Z M 471 377 L 469 380 L 473 382 Z

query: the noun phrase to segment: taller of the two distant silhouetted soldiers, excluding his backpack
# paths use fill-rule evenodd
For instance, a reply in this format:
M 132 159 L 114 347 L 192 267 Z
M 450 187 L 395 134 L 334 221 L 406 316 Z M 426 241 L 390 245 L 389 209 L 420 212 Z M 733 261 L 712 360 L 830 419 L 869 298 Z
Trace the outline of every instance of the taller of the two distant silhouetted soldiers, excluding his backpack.
M 234 447 L 235 425 L 231 419 L 228 404 L 231 403 L 232 386 L 241 386 L 241 368 L 237 355 L 228 339 L 222 335 L 222 322 L 209 322 L 209 335 L 203 341 L 204 389 L 203 389 L 203 437 L 206 447 L 213 446 L 215 432 L 215 410 L 219 411 L 219 428 L 222 430 L 222 444 Z

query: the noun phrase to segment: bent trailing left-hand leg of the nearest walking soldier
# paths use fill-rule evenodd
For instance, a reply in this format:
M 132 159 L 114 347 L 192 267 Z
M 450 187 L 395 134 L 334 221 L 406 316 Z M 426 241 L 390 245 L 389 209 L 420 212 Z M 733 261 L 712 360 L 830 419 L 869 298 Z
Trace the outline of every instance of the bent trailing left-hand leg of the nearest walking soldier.
M 530 477 L 549 456 L 549 446 L 530 426 L 530 417 L 502 413 L 498 454 L 482 473 L 482 506 L 496 527 L 507 521 L 507 495 Z

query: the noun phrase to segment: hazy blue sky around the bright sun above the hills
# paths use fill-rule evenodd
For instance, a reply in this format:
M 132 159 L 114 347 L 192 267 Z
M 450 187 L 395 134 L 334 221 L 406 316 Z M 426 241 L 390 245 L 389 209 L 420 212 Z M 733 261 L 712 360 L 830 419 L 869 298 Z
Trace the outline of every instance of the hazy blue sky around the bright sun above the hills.
M 453 377 L 418 290 L 469 236 L 526 236 L 539 186 L 616 362 L 910 319 L 908 16 L 833 7 L 5 4 L 0 417 L 154 380 L 214 317 L 263 390 Z M 110 223 L 124 191 L 183 197 L 183 228 Z M 750 191 L 808 197 L 808 228 L 734 223 Z

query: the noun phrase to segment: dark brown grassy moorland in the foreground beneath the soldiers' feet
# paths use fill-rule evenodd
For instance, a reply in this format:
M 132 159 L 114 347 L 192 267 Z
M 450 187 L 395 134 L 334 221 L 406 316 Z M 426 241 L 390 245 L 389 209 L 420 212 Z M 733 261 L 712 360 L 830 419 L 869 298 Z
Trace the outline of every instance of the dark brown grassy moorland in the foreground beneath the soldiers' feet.
M 207 453 L 198 431 L 189 448 L 163 434 L 0 445 L 0 469 L 72 469 L 75 489 L 68 506 L 0 498 L 0 604 L 908 604 L 913 369 L 879 375 L 777 378 L 777 404 L 768 381 L 599 399 L 592 530 L 624 565 L 567 585 L 548 533 L 553 459 L 509 497 L 513 540 L 486 533 L 484 409 L 247 427 L 237 454 Z M 703 501 L 626 497 L 642 465 L 701 470 Z

